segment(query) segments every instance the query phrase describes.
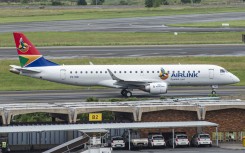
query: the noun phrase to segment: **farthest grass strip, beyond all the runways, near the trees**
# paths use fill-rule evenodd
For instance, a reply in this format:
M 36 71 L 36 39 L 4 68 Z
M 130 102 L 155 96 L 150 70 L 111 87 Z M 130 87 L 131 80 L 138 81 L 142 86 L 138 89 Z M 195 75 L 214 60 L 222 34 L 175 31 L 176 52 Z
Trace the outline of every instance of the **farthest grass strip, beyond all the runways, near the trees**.
M 81 19 L 110 19 L 133 18 L 150 16 L 168 16 L 182 14 L 210 14 L 223 12 L 243 12 L 243 7 L 215 6 L 215 7 L 160 7 L 160 8 L 1 8 L 0 24 L 34 21 L 59 21 Z

